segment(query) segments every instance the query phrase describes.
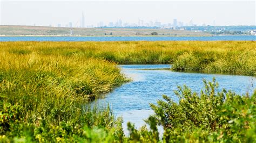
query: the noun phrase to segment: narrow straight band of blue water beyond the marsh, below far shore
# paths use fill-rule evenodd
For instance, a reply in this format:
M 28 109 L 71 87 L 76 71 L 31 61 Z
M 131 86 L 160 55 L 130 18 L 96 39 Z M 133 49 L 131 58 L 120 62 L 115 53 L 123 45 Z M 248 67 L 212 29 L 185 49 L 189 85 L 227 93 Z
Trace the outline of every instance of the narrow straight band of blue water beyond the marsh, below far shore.
M 0 37 L 0 41 L 216 41 L 256 40 L 253 35 L 226 35 L 205 37 Z

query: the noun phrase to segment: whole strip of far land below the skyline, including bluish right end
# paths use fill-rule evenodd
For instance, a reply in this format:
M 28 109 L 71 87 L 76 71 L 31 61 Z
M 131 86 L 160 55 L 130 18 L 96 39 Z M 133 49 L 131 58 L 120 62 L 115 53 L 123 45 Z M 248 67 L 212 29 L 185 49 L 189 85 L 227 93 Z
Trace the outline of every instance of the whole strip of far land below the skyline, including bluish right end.
M 0 37 L 197 37 L 217 35 L 252 35 L 245 31 L 209 31 L 206 27 L 187 27 L 180 29 L 168 28 L 132 28 L 132 27 L 47 27 L 47 26 L 20 26 L 0 25 Z M 208 27 L 209 28 L 209 27 Z M 250 28 L 254 28 L 253 26 Z M 196 29 L 196 30 L 191 30 Z M 199 29 L 199 30 L 197 30 Z M 211 30 L 211 29 L 210 29 Z M 236 30 L 233 28 L 233 30 Z M 239 34 L 238 34 L 239 33 Z

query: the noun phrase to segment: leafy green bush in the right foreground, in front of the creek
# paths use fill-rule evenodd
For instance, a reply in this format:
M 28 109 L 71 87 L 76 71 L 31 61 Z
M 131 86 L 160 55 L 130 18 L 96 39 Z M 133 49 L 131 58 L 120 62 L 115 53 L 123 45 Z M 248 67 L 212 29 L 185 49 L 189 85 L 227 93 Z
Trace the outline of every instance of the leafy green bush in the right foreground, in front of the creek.
M 178 87 L 179 103 L 164 95 L 164 101 L 151 104 L 156 115 L 150 118 L 164 127 L 163 141 L 255 141 L 256 91 L 252 96 L 217 91 L 214 78 L 204 84 L 200 94 Z

